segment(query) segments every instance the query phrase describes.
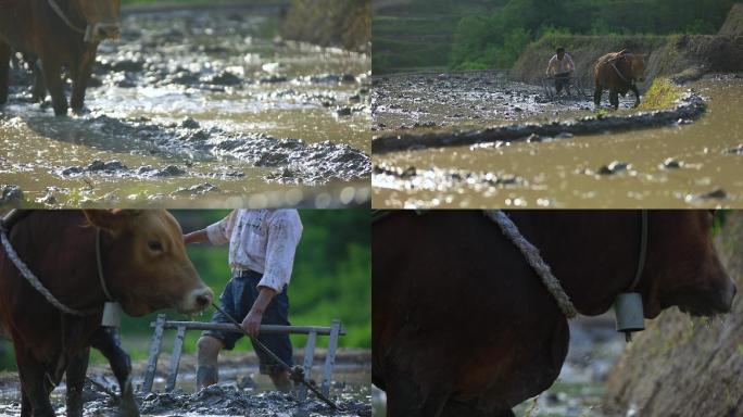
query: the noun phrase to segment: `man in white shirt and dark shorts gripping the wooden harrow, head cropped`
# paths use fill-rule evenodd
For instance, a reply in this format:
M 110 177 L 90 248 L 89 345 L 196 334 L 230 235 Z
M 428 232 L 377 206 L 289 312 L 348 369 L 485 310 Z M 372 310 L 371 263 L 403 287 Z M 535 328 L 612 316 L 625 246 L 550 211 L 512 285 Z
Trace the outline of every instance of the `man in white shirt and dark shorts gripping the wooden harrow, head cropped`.
M 219 300 L 222 307 L 289 366 L 292 348 L 288 334 L 260 334 L 264 325 L 289 326 L 287 286 L 291 279 L 294 252 L 302 236 L 302 222 L 295 210 L 236 210 L 206 229 L 188 233 L 186 243 L 209 240 L 229 243 L 232 277 Z M 219 312 L 213 323 L 231 323 Z M 197 344 L 197 389 L 218 380 L 217 357 L 222 349 L 231 350 L 241 333 L 207 330 Z M 291 390 L 288 369 L 255 349 L 261 374 L 267 374 L 277 389 Z

